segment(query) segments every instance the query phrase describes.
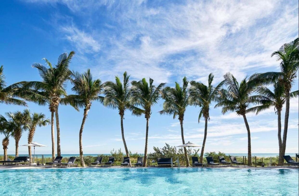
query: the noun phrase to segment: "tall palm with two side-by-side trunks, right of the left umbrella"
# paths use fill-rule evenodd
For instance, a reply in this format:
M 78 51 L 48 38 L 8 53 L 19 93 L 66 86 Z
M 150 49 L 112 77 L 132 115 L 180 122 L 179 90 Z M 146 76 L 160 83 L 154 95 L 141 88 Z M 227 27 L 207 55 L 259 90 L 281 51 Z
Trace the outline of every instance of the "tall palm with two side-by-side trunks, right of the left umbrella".
M 70 76 L 69 64 L 74 54 L 74 51 L 71 51 L 69 54 L 61 54 L 55 66 L 52 66 L 45 58 L 43 60 L 45 60 L 47 66 L 33 63 L 32 67 L 39 70 L 42 81 L 27 82 L 23 86 L 24 89 L 30 89 L 31 91 L 24 91 L 22 97 L 40 105 L 48 104 L 49 106 L 51 112 L 52 159 L 55 159 L 54 113 L 56 113 L 57 156 L 61 156 L 58 107 L 62 96 L 67 96 L 65 87 Z

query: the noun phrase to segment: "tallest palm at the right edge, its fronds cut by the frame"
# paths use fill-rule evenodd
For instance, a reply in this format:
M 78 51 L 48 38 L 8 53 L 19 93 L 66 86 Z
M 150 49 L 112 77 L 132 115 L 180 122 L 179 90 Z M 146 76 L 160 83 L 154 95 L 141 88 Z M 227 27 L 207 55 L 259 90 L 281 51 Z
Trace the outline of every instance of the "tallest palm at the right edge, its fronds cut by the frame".
M 294 84 L 294 80 L 297 77 L 299 68 L 298 40 L 299 38 L 282 45 L 278 51 L 275 51 L 271 54 L 271 57 L 276 56 L 277 61 L 280 61 L 280 72 L 266 72 L 260 74 L 259 77 L 259 79 L 262 79 L 263 84 L 275 83 L 276 81 L 278 81 L 285 90 L 286 113 L 284 117 L 282 152 L 280 160 L 283 159 L 282 156 L 284 156 L 286 152 L 286 136 L 288 132 L 290 111 L 290 92 L 292 89 L 292 85 Z

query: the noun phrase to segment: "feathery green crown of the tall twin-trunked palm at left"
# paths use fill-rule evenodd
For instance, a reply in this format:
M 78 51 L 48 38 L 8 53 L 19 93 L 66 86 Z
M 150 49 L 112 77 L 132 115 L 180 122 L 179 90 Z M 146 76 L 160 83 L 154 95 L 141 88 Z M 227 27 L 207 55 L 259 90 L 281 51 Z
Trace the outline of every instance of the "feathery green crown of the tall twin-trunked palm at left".
M 69 71 L 69 64 L 75 52 L 71 51 L 70 54 L 63 53 L 58 57 L 58 62 L 55 66 L 45 58 L 47 66 L 40 63 L 33 63 L 39 71 L 42 81 L 26 82 L 19 95 L 26 100 L 33 101 L 40 105 L 49 104 L 50 107 L 59 104 L 61 96 L 66 96 L 66 82 L 69 79 L 71 72 Z M 54 110 L 52 108 L 52 110 Z

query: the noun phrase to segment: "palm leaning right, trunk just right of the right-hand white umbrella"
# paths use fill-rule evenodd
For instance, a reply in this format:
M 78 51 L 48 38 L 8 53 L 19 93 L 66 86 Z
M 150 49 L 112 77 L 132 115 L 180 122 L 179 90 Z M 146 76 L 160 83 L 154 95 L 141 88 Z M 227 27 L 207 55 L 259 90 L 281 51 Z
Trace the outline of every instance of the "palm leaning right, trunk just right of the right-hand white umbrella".
M 205 141 L 207 139 L 208 121 L 210 121 L 210 114 L 209 114 L 210 104 L 212 103 L 212 101 L 216 100 L 216 96 L 218 95 L 218 92 L 224 83 L 224 81 L 222 81 L 216 87 L 214 87 L 212 85 L 213 78 L 214 75 L 210 73 L 208 78 L 208 86 L 200 82 L 191 81 L 190 82 L 191 87 L 189 89 L 190 92 L 189 103 L 194 106 L 201 107 L 199 111 L 198 122 L 200 118 L 202 117 L 205 118 L 205 134 L 202 142 L 202 151 L 200 153 L 200 158 L 199 158 L 199 162 L 201 163 L 202 163 L 203 154 L 205 150 Z

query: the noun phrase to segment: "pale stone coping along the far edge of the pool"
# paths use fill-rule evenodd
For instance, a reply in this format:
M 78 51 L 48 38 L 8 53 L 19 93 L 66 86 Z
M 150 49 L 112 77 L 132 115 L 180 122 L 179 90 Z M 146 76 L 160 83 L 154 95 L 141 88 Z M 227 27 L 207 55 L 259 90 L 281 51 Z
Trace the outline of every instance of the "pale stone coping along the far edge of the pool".
M 298 167 L 294 166 L 275 166 L 275 167 L 266 167 L 266 168 L 256 168 L 256 167 L 208 167 L 208 168 L 202 168 L 202 167 L 70 167 L 70 168 L 52 168 L 52 167 L 45 167 L 42 165 L 0 165 L 0 170 L 24 170 L 24 169 L 253 169 L 253 170 L 277 170 L 277 169 L 295 169 L 298 170 Z

